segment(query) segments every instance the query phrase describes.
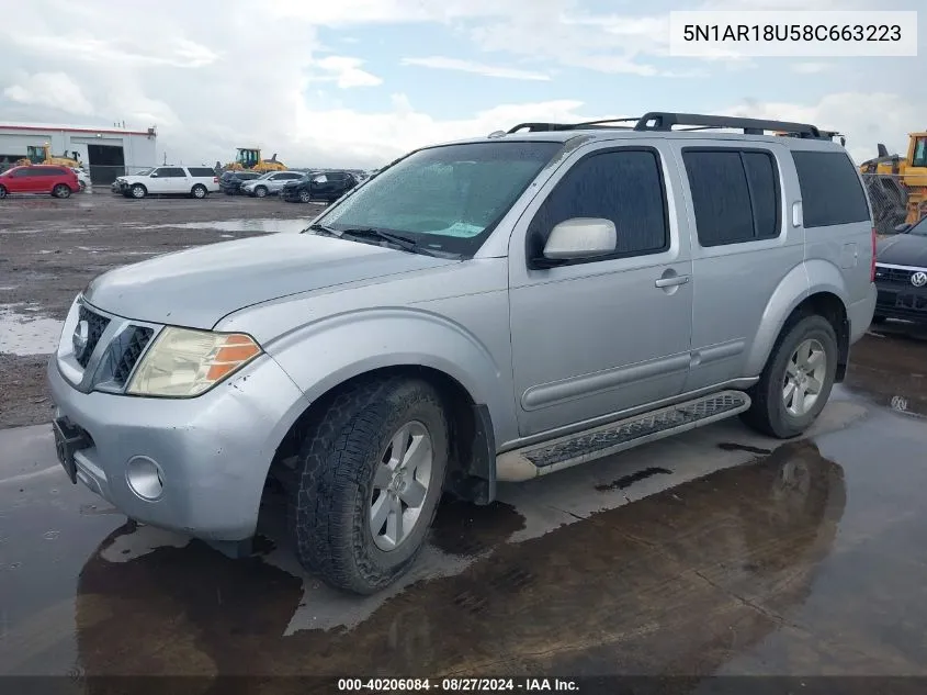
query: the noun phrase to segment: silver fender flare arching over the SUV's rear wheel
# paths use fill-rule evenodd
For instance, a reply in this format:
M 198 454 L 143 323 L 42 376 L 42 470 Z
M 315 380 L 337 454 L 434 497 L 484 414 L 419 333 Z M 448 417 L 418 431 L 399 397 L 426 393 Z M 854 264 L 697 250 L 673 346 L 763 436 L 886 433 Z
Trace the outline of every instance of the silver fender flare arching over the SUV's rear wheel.
M 747 357 L 745 375 L 756 377 L 766 366 L 772 346 L 785 321 L 795 307 L 812 294 L 829 292 L 848 305 L 847 287 L 839 268 L 821 259 L 809 260 L 792 268 L 772 292 L 762 313 L 753 348 Z

